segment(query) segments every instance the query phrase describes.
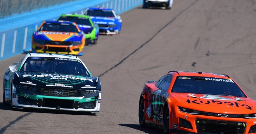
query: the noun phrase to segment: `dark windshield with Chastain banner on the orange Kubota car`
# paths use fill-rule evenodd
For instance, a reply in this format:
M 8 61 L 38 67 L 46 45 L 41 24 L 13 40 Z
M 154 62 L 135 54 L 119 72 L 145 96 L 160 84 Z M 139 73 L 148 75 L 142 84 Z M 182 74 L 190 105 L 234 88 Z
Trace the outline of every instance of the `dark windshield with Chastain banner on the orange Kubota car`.
M 212 77 L 178 76 L 171 92 L 246 97 L 231 79 Z

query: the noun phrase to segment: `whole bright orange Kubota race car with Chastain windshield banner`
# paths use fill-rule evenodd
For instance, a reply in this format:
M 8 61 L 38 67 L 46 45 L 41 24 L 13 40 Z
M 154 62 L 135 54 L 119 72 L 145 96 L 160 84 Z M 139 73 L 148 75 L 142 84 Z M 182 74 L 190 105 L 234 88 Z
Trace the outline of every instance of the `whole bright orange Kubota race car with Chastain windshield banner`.
M 228 75 L 170 71 L 144 84 L 139 124 L 172 134 L 255 134 L 255 105 Z

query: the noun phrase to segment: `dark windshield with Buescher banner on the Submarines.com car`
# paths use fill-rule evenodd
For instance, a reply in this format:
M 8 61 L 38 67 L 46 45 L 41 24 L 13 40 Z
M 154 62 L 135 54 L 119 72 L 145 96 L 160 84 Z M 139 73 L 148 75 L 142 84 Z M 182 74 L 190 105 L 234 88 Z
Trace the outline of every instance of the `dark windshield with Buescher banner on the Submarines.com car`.
M 90 75 L 80 60 L 68 58 L 29 57 L 19 71 Z

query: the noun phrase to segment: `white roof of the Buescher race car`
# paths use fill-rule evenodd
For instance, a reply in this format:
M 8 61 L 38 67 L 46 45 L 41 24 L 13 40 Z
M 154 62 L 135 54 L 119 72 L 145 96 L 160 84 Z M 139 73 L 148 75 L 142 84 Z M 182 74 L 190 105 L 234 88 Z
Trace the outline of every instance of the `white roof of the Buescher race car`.
M 53 57 L 53 58 L 69 58 L 69 59 L 79 59 L 74 55 L 66 55 L 66 54 L 52 54 L 52 53 L 28 53 L 26 57 Z

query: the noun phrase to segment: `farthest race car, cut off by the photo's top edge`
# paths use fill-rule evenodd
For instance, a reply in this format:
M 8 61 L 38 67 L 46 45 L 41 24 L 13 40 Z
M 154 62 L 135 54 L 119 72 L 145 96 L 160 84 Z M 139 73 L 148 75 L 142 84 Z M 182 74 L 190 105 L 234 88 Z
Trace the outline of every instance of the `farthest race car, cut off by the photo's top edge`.
M 171 9 L 173 0 L 143 0 L 142 8 Z

